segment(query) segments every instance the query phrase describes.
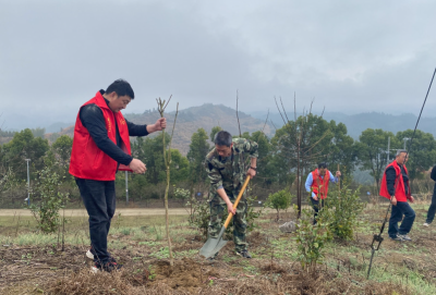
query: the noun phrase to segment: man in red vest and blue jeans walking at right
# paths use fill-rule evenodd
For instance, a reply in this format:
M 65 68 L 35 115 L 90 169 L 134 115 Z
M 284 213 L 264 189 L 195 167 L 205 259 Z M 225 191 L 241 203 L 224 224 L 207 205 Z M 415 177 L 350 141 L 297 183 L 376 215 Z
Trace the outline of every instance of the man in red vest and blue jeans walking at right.
M 408 234 L 415 220 L 415 211 L 408 204 L 408 200 L 414 202 L 414 198 L 410 193 L 407 161 L 408 151 L 399 149 L 396 159 L 386 167 L 380 186 L 380 196 L 390 199 L 392 204 L 388 234 L 395 241 L 412 241 Z M 398 222 L 401 220 L 398 229 Z

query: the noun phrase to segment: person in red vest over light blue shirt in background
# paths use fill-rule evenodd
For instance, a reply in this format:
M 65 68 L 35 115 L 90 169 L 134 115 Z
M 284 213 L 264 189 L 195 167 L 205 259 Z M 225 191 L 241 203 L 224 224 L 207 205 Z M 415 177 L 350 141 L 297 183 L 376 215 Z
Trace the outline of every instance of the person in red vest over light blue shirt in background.
M 322 207 L 324 207 L 325 199 L 327 198 L 328 184 L 330 182 L 337 183 L 340 175 L 340 171 L 336 171 L 336 176 L 334 176 L 331 172 L 327 170 L 326 163 L 319 163 L 318 169 L 312 171 L 307 175 L 305 188 L 307 193 L 312 192 L 311 201 L 312 207 L 315 210 L 314 224 L 316 224 L 316 217 L 318 216 L 318 211 Z

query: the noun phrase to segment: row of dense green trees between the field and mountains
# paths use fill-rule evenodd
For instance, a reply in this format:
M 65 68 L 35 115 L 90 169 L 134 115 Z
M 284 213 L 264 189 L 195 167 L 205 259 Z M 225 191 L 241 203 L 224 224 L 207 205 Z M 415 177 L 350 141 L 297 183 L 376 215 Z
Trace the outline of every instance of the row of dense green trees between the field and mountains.
M 191 137 L 186 157 L 172 149 L 171 184 L 174 187 L 183 187 L 191 194 L 207 193 L 204 159 L 211 148 L 209 140 L 219 130 L 219 126 L 207 132 L 198 128 Z M 412 133 L 412 130 L 393 134 L 367 128 L 362 132 L 359 140 L 354 140 L 348 135 L 344 124 L 337 124 L 334 120 L 328 122 L 312 113 L 288 121 L 276 130 L 271 138 L 262 131 L 243 133 L 242 137 L 258 143 L 257 177 L 252 182 L 251 194 L 266 198 L 268 194 L 283 187 L 295 190 L 300 184 L 296 194 L 303 195 L 306 175 L 318 162 L 327 162 L 331 171 L 336 171 L 339 165 L 342 175 L 349 181 L 352 181 L 356 169 L 368 171 L 377 185 L 386 164 L 395 158 L 396 149 L 410 147 Z M 166 174 L 161 136 L 136 138 L 131 143 L 133 157 L 147 167 L 145 174 L 129 174 L 129 196 L 133 201 L 147 202 L 164 197 Z M 38 182 L 38 171 L 49 167 L 50 171 L 62 176 L 63 193 L 70 194 L 71 201 L 80 202 L 74 179 L 68 173 L 72 142 L 72 138 L 63 135 L 50 146 L 47 139 L 35 136 L 35 131 L 14 133 L 11 142 L 0 146 L 0 207 L 24 205 L 27 196 L 26 159 L 29 159 L 31 192 Z M 416 131 L 410 151 L 408 168 L 413 182 L 422 179 L 424 172 L 436 162 L 434 136 Z M 118 197 L 124 198 L 123 172 L 117 174 L 116 187 Z

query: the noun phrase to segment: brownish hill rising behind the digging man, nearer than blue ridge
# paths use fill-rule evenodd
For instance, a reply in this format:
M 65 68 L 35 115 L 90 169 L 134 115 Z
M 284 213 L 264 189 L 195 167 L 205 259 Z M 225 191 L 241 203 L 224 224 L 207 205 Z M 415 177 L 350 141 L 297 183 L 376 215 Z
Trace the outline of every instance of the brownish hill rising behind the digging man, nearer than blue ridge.
M 170 112 L 166 115 L 168 122 L 168 132 L 171 132 L 174 122 L 175 112 Z M 136 124 L 154 124 L 160 116 L 156 110 L 147 110 L 142 114 L 128 113 L 124 116 Z M 255 119 L 246 113 L 239 112 L 241 124 L 241 133 L 255 132 L 264 128 L 265 121 Z M 204 128 L 207 134 L 210 133 L 214 126 L 230 132 L 232 135 L 239 134 L 237 111 L 222 105 L 206 103 L 199 107 L 192 107 L 180 110 L 174 130 L 174 138 L 172 147 L 180 150 L 182 155 L 186 155 L 190 149 L 191 136 L 198 128 Z M 272 127 L 270 124 L 265 125 L 264 130 L 267 136 L 272 136 Z M 46 138 L 56 138 L 59 135 L 73 136 L 74 126 L 63 128 L 61 132 L 46 134 Z

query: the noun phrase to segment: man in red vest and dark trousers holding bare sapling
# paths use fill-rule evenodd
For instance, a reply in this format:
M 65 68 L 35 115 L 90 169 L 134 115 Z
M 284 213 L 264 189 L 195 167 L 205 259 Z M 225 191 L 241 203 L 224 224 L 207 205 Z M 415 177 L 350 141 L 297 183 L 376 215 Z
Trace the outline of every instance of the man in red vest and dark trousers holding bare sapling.
M 167 126 L 164 118 L 153 125 L 135 125 L 121 110 L 134 98 L 126 81 L 117 79 L 85 102 L 74 126 L 70 173 L 74 176 L 89 216 L 90 250 L 94 271 L 119 269 L 108 253 L 110 221 L 116 211 L 116 172 L 145 173 L 145 164 L 132 158 L 130 136 L 145 136 Z

